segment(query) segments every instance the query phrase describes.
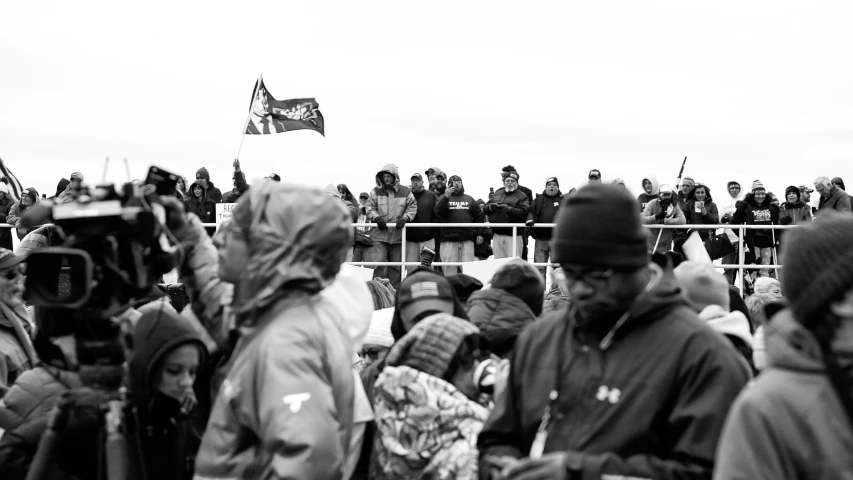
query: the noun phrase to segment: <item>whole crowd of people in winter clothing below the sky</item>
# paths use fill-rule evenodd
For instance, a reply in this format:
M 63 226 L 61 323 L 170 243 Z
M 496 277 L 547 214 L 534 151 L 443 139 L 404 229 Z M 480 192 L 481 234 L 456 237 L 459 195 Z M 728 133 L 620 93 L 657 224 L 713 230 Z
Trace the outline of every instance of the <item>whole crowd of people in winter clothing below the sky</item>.
M 589 185 L 563 195 L 550 177 L 533 198 L 514 167 L 501 176 L 475 199 L 437 167 L 403 185 L 387 165 L 355 198 L 275 174 L 250 187 L 235 161 L 225 195 L 202 168 L 164 197 L 189 303 L 145 299 L 115 316 L 132 339 L 147 478 L 853 478 L 853 216 L 840 179 L 815 180 L 815 212 L 805 185 L 780 201 L 760 181 L 743 198 L 731 182 L 718 206 L 690 178 L 677 190 L 644 179 L 634 198 L 593 170 Z M 19 236 L 32 195 L 10 206 Z M 211 237 L 203 214 L 237 200 Z M 406 229 L 404 245 L 419 223 L 483 226 Z M 513 239 L 502 223 L 527 228 Z M 746 230 L 753 261 L 778 247 L 784 269 L 742 292 L 685 258 L 683 232 L 647 228 L 658 224 L 799 228 Z M 535 263 L 559 267 L 531 265 L 525 235 Z M 521 258 L 485 284 L 432 265 L 513 257 L 513 241 Z M 347 264 L 403 251 L 420 262 L 405 278 L 383 266 L 365 282 Z M 26 260 L 0 249 L 3 479 L 25 478 L 63 398 L 100 398 L 76 337 L 24 302 Z M 97 477 L 97 418 L 70 422 L 50 478 Z

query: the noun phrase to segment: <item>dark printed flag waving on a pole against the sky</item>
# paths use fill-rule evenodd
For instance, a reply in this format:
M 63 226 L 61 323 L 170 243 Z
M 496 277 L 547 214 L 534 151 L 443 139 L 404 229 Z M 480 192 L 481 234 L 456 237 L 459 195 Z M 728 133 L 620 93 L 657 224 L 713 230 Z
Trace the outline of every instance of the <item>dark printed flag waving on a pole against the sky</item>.
M 325 137 L 320 105 L 313 98 L 276 100 L 270 95 L 261 75 L 252 92 L 249 121 L 244 133 L 267 135 L 291 130 L 314 130 Z

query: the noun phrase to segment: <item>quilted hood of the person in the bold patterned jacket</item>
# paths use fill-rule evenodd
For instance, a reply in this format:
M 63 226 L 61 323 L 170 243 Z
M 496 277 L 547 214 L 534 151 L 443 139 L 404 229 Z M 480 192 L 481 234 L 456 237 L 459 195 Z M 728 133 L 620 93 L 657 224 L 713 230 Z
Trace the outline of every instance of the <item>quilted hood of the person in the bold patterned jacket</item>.
M 471 322 L 446 313 L 431 315 L 394 344 L 386 365 L 407 366 L 443 378 L 465 337 L 479 333 Z

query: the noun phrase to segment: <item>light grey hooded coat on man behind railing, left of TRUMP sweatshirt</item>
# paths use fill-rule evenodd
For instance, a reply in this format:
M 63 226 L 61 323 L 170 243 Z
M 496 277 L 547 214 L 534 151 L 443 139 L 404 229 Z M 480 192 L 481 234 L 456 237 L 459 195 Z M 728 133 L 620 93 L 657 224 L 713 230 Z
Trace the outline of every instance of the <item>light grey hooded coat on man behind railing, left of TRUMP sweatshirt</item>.
M 382 175 L 386 173 L 394 176 L 394 186 L 390 189 L 385 188 L 382 182 Z M 370 229 L 370 238 L 374 242 L 393 245 L 403 241 L 402 230 L 394 228 L 394 224 L 400 219 L 405 220 L 406 223 L 414 220 L 418 213 L 418 204 L 411 189 L 400 185 L 400 175 L 397 173 L 396 165 L 385 165 L 376 174 L 376 188 L 370 191 L 366 210 L 370 222 L 376 222 L 381 218 L 385 220 L 388 227 L 387 230 L 379 230 L 378 227 Z

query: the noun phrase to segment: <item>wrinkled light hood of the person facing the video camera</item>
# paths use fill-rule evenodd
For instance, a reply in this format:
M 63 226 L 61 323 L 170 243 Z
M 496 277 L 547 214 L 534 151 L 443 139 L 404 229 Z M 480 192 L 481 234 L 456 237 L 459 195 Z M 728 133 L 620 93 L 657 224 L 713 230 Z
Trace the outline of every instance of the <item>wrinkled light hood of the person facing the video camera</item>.
M 353 241 L 344 204 L 310 187 L 256 182 L 232 219 L 249 246 L 236 285 L 240 314 L 263 311 L 291 294 L 320 292 L 334 281 Z

